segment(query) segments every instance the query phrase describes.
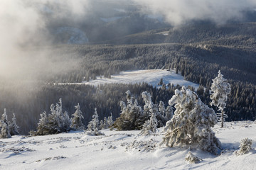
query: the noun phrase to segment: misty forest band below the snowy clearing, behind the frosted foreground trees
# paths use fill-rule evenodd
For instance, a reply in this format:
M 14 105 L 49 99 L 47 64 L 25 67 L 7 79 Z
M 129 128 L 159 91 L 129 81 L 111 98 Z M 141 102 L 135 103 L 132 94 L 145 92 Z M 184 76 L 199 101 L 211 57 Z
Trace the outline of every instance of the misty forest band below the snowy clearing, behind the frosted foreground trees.
M 95 108 L 99 115 L 99 120 L 110 116 L 112 113 L 113 120 L 119 117 L 121 108 L 119 101 L 125 101 L 125 92 L 130 90 L 140 106 L 143 106 L 142 92 L 148 91 L 152 96 L 154 103 L 164 101 L 168 105 L 168 100 L 174 94 L 176 86 L 169 88 L 156 89 L 149 84 L 106 84 L 98 87 L 82 85 L 57 85 L 57 84 L 38 84 L 33 86 L 31 91 L 26 91 L 23 95 L 20 86 L 13 87 L 16 95 L 10 96 L 10 91 L 1 91 L 1 111 L 6 108 L 9 118 L 12 113 L 16 113 L 16 122 L 21 127 L 21 134 L 28 134 L 30 130 L 36 130 L 40 114 L 43 111 L 50 113 L 52 103 L 57 103 L 59 98 L 63 101 L 63 111 L 68 115 L 75 113 L 75 106 L 80 103 L 80 110 L 83 113 L 84 125 L 92 119 Z M 180 86 L 178 86 L 180 88 Z M 21 98 L 21 96 L 23 96 Z

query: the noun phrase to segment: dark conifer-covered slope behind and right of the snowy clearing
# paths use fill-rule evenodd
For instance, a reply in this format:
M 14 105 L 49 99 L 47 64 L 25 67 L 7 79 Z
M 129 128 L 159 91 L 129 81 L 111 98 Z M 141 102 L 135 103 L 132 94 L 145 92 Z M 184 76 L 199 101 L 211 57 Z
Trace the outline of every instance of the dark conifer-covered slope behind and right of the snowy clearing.
M 65 47 L 65 46 L 64 46 Z M 188 81 L 210 88 L 218 70 L 231 84 L 228 120 L 254 120 L 256 115 L 256 51 L 252 47 L 198 44 L 73 45 L 56 49 L 81 59 L 70 74 L 55 76 L 59 82 L 111 78 L 129 69 L 176 69 Z

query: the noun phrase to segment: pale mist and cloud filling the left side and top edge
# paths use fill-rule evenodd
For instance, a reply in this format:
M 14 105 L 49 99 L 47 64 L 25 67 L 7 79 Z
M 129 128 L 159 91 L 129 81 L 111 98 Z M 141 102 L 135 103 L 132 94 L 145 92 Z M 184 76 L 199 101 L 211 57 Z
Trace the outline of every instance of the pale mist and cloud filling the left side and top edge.
M 36 80 L 41 74 L 68 72 L 78 65 L 78 60 L 68 57 L 58 60 L 58 55 L 48 48 L 54 48 L 56 38 L 53 35 L 59 27 L 79 28 L 93 37 L 100 34 L 98 30 L 92 31 L 94 27 L 105 24 L 100 17 L 123 17 L 139 12 L 161 16 L 169 26 L 196 20 L 223 24 L 230 20 L 242 21 L 244 11 L 255 8 L 253 0 L 2 0 L 0 78 Z

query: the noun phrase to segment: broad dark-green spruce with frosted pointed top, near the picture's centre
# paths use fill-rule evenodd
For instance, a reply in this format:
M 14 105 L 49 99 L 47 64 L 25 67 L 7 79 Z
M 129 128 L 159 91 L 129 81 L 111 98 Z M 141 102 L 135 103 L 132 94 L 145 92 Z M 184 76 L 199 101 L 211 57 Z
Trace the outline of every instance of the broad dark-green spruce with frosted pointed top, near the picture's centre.
M 142 112 L 137 100 L 133 102 L 131 92 L 127 91 L 126 94 L 127 105 L 123 101 L 120 102 L 120 117 L 114 121 L 113 127 L 117 130 L 141 130 L 148 117 Z

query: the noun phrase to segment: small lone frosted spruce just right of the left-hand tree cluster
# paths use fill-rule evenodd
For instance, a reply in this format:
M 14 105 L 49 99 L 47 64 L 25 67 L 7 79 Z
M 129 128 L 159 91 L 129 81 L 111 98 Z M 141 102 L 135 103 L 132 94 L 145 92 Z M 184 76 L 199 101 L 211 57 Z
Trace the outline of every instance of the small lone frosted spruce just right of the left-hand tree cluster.
M 80 105 L 78 103 L 77 106 L 75 106 L 75 113 L 72 115 L 73 118 L 71 119 L 71 128 L 75 130 L 84 130 L 85 125 L 82 124 L 82 119 L 84 118 L 82 116 L 82 111 L 80 110 Z

